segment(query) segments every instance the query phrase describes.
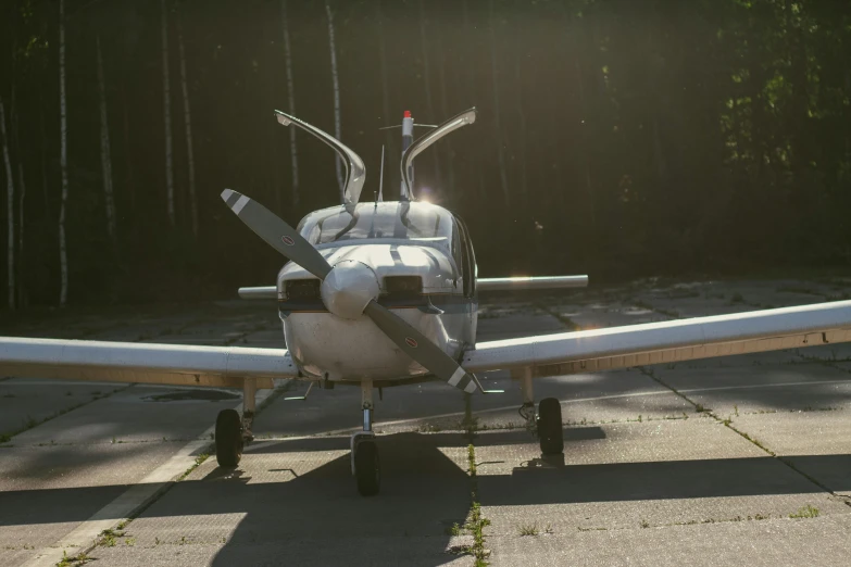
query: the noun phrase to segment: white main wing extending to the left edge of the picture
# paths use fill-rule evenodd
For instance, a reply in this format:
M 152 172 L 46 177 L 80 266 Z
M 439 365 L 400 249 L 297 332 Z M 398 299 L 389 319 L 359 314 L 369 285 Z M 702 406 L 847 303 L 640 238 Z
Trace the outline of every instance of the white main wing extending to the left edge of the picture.
M 0 337 L 0 377 L 274 388 L 298 375 L 284 349 L 189 346 Z

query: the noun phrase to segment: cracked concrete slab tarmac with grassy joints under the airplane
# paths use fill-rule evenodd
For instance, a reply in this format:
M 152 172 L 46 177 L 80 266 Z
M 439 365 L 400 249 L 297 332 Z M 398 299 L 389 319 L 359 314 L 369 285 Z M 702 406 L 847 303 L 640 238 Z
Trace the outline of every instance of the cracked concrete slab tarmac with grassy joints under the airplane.
M 648 280 L 484 297 L 478 340 L 849 292 Z M 0 333 L 283 346 L 263 302 L 46 313 Z M 210 431 L 237 390 L 0 377 L 0 565 L 847 566 L 850 360 L 819 346 L 540 379 L 536 398 L 562 402 L 563 458 L 541 456 L 506 373 L 483 377 L 504 394 L 468 400 L 442 383 L 386 389 L 368 499 L 350 470 L 358 388 L 264 392 L 258 439 L 225 470 L 207 458 Z

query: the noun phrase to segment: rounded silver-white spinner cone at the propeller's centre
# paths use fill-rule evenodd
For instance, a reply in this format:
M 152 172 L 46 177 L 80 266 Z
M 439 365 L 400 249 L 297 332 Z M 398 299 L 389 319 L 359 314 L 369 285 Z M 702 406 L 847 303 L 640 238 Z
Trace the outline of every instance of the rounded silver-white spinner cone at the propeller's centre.
M 380 287 L 375 272 L 362 262 L 343 260 L 335 264 L 322 282 L 322 302 L 343 319 L 356 319 L 364 307 L 378 297 Z

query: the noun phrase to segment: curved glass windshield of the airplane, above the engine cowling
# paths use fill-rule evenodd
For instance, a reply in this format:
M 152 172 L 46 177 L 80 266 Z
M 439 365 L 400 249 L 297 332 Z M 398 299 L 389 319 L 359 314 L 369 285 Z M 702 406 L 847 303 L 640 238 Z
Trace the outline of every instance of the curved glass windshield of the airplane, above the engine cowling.
M 338 206 L 311 213 L 299 224 L 299 232 L 314 245 L 392 238 L 449 248 L 452 216 L 445 209 L 427 203 L 361 203 L 352 212 Z

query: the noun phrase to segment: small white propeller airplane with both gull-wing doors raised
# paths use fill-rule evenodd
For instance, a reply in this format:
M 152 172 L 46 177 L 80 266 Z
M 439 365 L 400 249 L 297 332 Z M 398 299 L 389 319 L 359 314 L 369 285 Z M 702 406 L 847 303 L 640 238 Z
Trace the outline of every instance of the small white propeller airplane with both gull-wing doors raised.
M 371 495 L 380 487 L 375 388 L 445 380 L 487 394 L 475 373 L 508 369 L 541 452 L 558 454 L 561 404 L 548 398 L 536 407 L 535 378 L 851 341 L 851 301 L 838 301 L 476 343 L 479 291 L 581 287 L 588 278 L 478 278 L 464 222 L 415 199 L 414 159 L 473 124 L 475 109 L 415 141 L 405 112 L 400 198 L 384 201 L 379 182 L 374 202 L 360 202 L 366 169 L 358 154 L 295 116 L 275 115 L 328 144 L 347 172 L 340 205 L 310 213 L 296 228 L 245 194 L 222 193 L 240 220 L 289 259 L 276 286 L 239 290 L 246 299 L 277 300 L 287 349 L 0 337 L 0 375 L 242 388 L 242 414 L 223 410 L 216 418 L 222 467 L 236 466 L 253 440 L 259 388 L 274 388 L 276 378 L 308 380 L 308 393 L 314 385 L 360 386 L 363 429 L 351 438 L 351 468 L 359 492 Z

